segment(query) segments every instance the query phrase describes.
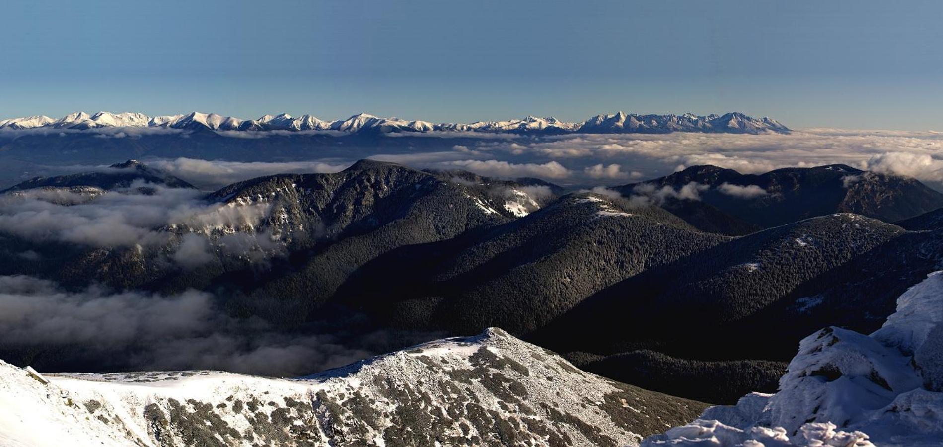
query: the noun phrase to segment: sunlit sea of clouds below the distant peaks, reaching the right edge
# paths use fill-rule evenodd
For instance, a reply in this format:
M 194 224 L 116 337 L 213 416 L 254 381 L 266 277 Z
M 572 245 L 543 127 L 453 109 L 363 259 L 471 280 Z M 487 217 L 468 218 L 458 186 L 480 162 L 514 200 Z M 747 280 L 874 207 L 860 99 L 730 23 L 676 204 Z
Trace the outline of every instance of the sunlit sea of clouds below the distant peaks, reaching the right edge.
M 439 134 L 440 135 L 440 134 Z M 399 137 L 403 138 L 403 137 Z M 790 134 L 591 134 L 480 139 L 405 155 L 364 154 L 433 169 L 537 176 L 563 185 L 619 185 L 711 164 L 743 174 L 847 164 L 943 185 L 943 134 L 933 131 L 802 129 Z

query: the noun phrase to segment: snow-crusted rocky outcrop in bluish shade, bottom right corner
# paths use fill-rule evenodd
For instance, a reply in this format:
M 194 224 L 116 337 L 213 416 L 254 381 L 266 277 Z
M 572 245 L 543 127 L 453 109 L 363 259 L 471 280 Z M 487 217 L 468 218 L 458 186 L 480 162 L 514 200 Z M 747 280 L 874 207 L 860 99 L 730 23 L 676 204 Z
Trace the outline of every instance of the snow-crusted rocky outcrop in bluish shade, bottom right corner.
M 943 445 L 943 272 L 904 292 L 870 336 L 828 327 L 802 339 L 779 389 L 642 445 Z

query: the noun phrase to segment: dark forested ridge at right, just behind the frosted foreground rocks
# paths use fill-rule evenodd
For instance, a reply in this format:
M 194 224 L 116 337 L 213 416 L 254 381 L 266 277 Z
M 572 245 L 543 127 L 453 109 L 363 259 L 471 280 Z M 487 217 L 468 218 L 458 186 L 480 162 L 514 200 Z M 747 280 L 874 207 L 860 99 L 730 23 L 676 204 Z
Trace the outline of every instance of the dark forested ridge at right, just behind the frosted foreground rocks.
M 802 312 L 753 323 L 769 308 L 779 306 L 795 290 L 813 289 L 813 284 L 819 290 L 832 286 L 841 266 L 909 235 L 896 225 L 854 214 L 771 228 L 628 277 L 588 297 L 531 337 L 560 352 L 614 356 L 595 362 L 593 368 L 604 369 L 599 371 L 615 371 L 612 365 L 626 358 L 622 353 L 654 350 L 678 357 L 670 364 L 685 365 L 686 371 L 679 374 L 693 373 L 687 368 L 707 360 L 723 360 L 710 364 L 712 373 L 742 374 L 747 365 L 765 364 L 759 360 L 786 360 L 802 334 L 808 334 L 795 328 L 819 323 L 805 321 L 811 314 Z M 893 308 L 896 297 L 885 297 L 882 307 Z M 859 312 L 857 318 L 863 315 Z M 734 370 L 721 373 L 724 368 Z M 629 371 L 634 370 L 624 374 Z M 769 372 L 763 375 L 769 383 L 781 373 L 769 368 L 758 371 Z M 670 386 L 670 381 L 661 383 Z M 728 398 L 742 395 L 728 390 Z

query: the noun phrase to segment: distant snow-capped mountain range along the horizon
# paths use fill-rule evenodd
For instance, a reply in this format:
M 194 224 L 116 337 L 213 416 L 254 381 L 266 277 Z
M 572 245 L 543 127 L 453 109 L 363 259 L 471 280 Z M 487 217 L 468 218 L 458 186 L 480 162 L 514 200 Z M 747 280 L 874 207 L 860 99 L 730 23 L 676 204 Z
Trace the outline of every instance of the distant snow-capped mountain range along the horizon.
M 398 133 L 398 132 L 484 132 L 484 133 L 647 133 L 710 132 L 759 134 L 788 133 L 789 128 L 771 118 L 753 118 L 739 112 L 723 115 L 638 115 L 618 112 L 597 115 L 582 123 L 567 123 L 553 117 L 528 116 L 520 120 L 484 121 L 472 124 L 433 124 L 427 121 L 407 121 L 399 118 L 379 118 L 359 113 L 345 120 L 323 121 L 311 115 L 292 117 L 287 113 L 265 115 L 256 120 L 242 120 L 216 113 L 191 112 L 185 115 L 151 117 L 142 113 L 95 114 L 75 112 L 55 119 L 44 115 L 0 120 L 0 129 L 95 129 L 103 127 L 156 127 L 188 130 L 268 131 L 320 130 L 340 133 Z

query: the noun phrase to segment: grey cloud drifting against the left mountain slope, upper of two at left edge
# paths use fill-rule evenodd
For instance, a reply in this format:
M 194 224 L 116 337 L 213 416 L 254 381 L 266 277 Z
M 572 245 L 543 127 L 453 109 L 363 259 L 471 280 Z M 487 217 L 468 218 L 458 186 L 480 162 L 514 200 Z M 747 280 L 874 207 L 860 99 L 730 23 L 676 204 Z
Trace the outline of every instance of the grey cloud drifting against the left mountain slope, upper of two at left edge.
M 185 268 L 226 255 L 261 260 L 281 249 L 260 228 L 271 212 L 267 202 L 229 205 L 207 202 L 197 190 L 146 185 L 149 193 L 139 193 L 139 186 L 8 193 L 0 196 L 0 231 L 94 248 L 167 247 Z

